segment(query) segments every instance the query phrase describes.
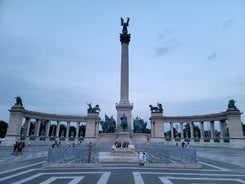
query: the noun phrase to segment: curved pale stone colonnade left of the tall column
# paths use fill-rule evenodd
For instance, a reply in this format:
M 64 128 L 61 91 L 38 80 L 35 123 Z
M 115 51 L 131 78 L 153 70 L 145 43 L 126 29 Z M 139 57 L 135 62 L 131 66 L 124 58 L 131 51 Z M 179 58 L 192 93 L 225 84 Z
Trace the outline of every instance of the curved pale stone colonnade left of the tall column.
M 6 145 L 16 141 L 49 144 L 49 141 L 94 141 L 99 134 L 99 113 L 72 116 L 41 113 L 14 105 L 10 110 Z

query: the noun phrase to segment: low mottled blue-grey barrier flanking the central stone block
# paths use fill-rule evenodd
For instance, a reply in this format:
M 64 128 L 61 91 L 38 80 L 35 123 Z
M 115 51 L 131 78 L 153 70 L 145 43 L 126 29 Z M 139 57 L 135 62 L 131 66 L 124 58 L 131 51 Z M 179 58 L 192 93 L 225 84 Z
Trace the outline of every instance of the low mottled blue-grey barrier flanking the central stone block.
M 110 145 L 81 144 L 76 147 L 49 147 L 48 163 L 99 163 L 101 151 L 111 151 Z M 136 152 L 146 153 L 146 162 L 150 164 L 196 164 L 195 148 L 182 148 L 164 144 L 136 144 Z M 137 155 L 136 155 L 137 156 Z

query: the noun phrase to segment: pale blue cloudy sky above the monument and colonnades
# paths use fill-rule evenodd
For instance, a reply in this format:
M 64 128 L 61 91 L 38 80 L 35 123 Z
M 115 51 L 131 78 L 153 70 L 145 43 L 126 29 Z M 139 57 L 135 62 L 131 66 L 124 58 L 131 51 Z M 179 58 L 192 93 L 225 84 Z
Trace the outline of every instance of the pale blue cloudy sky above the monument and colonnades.
M 129 101 L 164 115 L 245 112 L 244 0 L 0 0 L 0 120 L 25 109 L 116 119 L 122 32 L 130 18 Z M 242 122 L 245 122 L 242 114 Z

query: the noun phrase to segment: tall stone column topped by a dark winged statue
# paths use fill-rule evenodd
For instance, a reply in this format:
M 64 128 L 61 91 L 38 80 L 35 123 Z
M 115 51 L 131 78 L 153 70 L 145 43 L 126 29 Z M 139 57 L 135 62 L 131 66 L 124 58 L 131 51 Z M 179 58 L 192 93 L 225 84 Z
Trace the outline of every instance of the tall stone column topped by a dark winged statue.
M 117 109 L 117 131 L 123 131 L 121 127 L 121 117 L 125 115 L 127 117 L 128 131 L 132 131 L 131 120 L 132 120 L 132 109 L 133 104 L 129 103 L 129 54 L 128 45 L 130 42 L 130 34 L 128 34 L 128 23 L 123 21 L 121 18 L 121 25 L 123 26 L 122 34 L 120 34 L 120 42 L 122 45 L 121 51 L 121 85 L 120 85 L 120 101 L 116 104 Z

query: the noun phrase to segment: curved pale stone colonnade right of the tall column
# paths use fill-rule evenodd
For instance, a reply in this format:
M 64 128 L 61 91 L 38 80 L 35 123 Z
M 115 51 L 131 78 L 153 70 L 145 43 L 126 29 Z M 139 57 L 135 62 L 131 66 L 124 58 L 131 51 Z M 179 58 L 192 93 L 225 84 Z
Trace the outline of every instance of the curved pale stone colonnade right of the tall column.
M 163 113 L 153 112 L 150 117 L 151 139 L 157 142 L 232 143 L 234 147 L 242 147 L 245 141 L 241 114 L 237 108 L 195 116 L 163 116 Z

